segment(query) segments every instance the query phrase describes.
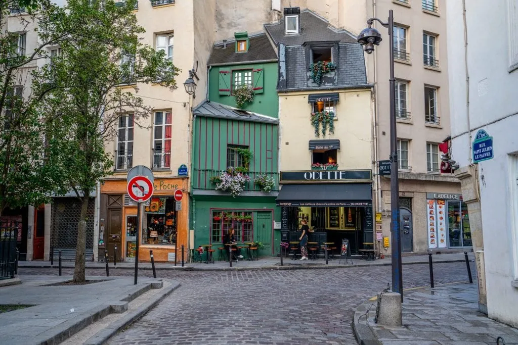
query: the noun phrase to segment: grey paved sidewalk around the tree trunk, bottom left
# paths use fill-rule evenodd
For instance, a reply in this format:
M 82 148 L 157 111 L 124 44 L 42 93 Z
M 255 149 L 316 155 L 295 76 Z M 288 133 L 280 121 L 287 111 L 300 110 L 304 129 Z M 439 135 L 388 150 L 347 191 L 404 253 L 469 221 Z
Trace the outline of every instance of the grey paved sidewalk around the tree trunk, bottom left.
M 32 306 L 0 312 L 2 344 L 59 343 L 107 314 L 124 312 L 129 301 L 163 284 L 144 277 L 139 277 L 137 285 L 133 284 L 133 278 L 87 277 L 100 281 L 82 286 L 49 286 L 71 277 L 22 275 L 20 278 L 21 285 L 0 288 L 0 301 L 2 305 Z M 162 288 L 160 294 L 168 294 L 179 285 L 173 284 Z

